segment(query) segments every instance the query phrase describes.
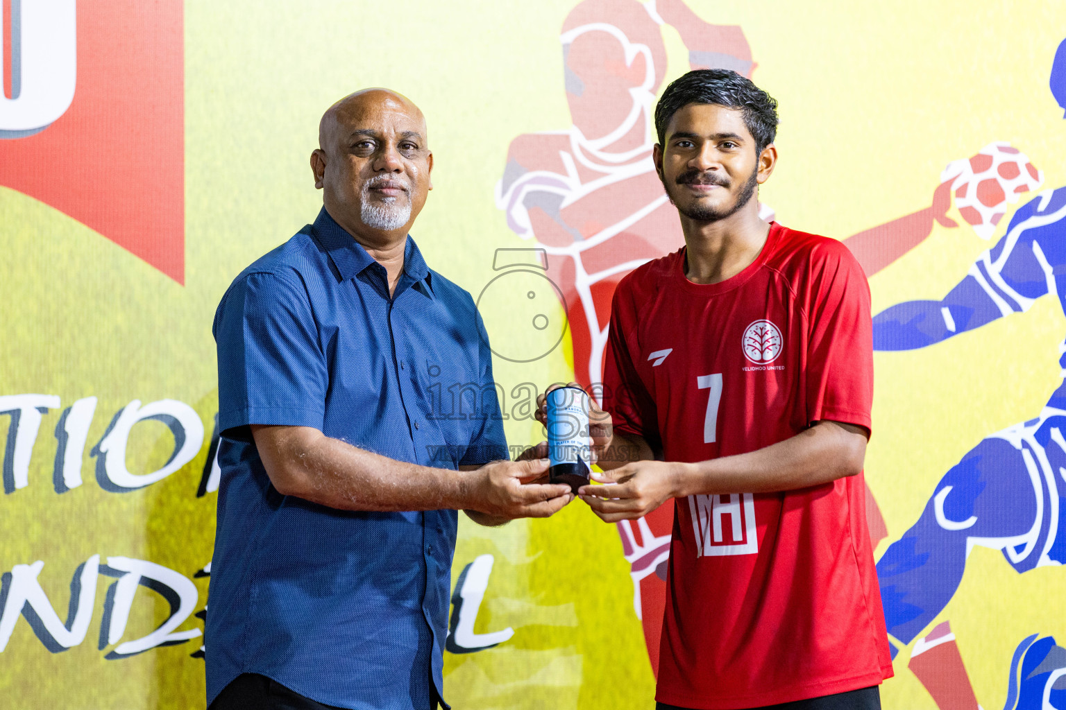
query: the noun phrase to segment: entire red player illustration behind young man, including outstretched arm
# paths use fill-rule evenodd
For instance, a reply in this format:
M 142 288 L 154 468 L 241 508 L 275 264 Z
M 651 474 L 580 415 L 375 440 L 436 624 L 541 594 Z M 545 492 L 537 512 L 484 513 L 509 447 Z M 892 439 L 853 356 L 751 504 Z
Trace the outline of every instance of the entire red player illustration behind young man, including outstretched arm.
M 567 15 L 559 36 L 572 123 L 565 130 L 517 136 L 496 187 L 496 202 L 510 229 L 547 253 L 548 273 L 567 308 L 575 379 L 586 386 L 602 380 L 610 306 L 618 281 L 684 243 L 677 212 L 663 194 L 651 160 L 652 105 L 666 69 L 665 26 L 678 31 L 693 69 L 733 69 L 750 78 L 757 66 L 740 27 L 707 22 L 682 0 L 583 0 Z M 976 159 L 983 160 L 979 154 L 971 161 Z M 957 227 L 944 216 L 952 191 L 965 188 L 956 184 L 956 174 L 949 169 L 941 176 L 930 207 L 844 240 L 867 276 L 920 244 L 934 224 Z M 1007 191 L 1007 197 L 997 201 L 996 191 L 985 189 L 983 204 L 975 207 L 991 212 L 963 216 L 973 225 L 996 219 L 1005 209 L 1000 202 L 1013 197 Z M 770 220 L 774 211 L 760 204 L 759 214 Z M 652 361 L 663 357 L 650 356 Z M 888 531 L 869 491 L 867 513 L 876 545 Z M 644 625 L 653 672 L 673 517 L 672 507 L 663 506 L 646 518 L 618 523 L 633 608 Z

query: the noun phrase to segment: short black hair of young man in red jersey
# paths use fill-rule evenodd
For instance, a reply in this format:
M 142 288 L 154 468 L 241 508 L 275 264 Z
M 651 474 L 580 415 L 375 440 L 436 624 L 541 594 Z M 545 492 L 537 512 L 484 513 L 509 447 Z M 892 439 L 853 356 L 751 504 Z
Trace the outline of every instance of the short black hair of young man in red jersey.
M 656 105 L 656 133 L 665 147 L 666 125 L 690 103 L 713 103 L 744 112 L 744 125 L 755 138 L 755 152 L 777 135 L 777 100 L 731 69 L 694 69 L 675 79 Z

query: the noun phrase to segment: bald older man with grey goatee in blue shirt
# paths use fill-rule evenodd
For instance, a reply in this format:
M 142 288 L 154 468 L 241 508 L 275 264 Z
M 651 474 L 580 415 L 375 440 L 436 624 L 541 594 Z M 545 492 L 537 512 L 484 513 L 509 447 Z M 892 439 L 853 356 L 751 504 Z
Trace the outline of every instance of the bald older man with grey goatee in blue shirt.
M 546 461 L 506 460 L 473 300 L 408 236 L 432 188 L 421 111 L 358 92 L 322 117 L 319 144 L 314 224 L 247 267 L 215 313 L 207 699 L 448 708 L 456 511 L 499 525 L 572 495 L 533 482 Z M 441 407 L 438 384 L 477 391 L 461 403 L 475 411 Z

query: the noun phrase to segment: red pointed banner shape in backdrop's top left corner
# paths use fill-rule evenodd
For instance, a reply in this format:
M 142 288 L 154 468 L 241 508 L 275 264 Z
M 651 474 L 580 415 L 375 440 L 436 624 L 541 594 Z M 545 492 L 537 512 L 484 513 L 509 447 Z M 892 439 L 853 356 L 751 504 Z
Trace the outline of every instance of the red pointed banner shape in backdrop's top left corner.
M 32 0 L 0 2 L 2 123 L 41 98 L 42 82 L 64 72 L 55 60 L 62 45 L 45 51 L 33 43 L 66 43 L 69 52 L 69 38 L 61 13 L 45 17 Z M 0 185 L 64 212 L 183 284 L 182 10 L 181 0 L 77 3 L 74 100 L 38 132 L 14 118 L 0 125 Z

